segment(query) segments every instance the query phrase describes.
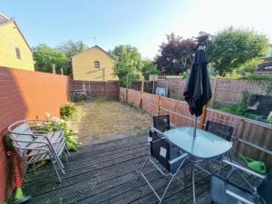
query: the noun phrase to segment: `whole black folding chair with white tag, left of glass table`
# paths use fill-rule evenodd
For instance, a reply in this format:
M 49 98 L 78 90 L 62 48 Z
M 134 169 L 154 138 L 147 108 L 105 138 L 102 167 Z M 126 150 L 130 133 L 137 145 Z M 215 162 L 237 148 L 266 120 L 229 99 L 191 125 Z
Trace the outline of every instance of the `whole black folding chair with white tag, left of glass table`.
M 170 183 L 175 178 L 177 172 L 184 164 L 184 161 L 187 160 L 188 154 L 187 153 L 182 154 L 178 147 L 174 146 L 172 143 L 170 143 L 170 141 L 167 140 L 167 137 L 163 134 L 163 132 L 153 127 L 151 127 L 150 129 L 150 136 L 148 138 L 148 141 L 150 146 L 150 154 L 148 158 L 145 160 L 137 179 L 141 175 L 142 178 L 148 183 L 149 187 L 151 188 L 151 190 L 154 192 L 154 194 L 160 200 L 161 203 L 167 190 L 170 187 Z M 160 166 L 153 159 L 158 160 L 163 169 L 161 169 Z M 157 170 L 159 170 L 163 176 L 170 178 L 170 181 L 161 197 L 156 192 L 156 190 L 151 186 L 151 182 L 146 178 L 146 176 L 142 172 L 148 160 L 151 161 L 151 164 Z M 178 177 L 176 178 L 180 180 Z M 181 180 L 180 182 L 184 185 L 184 183 Z

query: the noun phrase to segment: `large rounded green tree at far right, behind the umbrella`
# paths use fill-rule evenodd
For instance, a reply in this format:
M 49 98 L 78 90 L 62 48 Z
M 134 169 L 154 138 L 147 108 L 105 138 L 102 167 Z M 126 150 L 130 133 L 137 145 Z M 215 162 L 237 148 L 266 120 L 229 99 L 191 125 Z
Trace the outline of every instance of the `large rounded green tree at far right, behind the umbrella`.
M 267 54 L 268 40 L 263 34 L 230 27 L 212 36 L 206 51 L 215 71 L 225 75 L 237 71 L 245 63 L 251 66 L 252 62 L 257 63 Z

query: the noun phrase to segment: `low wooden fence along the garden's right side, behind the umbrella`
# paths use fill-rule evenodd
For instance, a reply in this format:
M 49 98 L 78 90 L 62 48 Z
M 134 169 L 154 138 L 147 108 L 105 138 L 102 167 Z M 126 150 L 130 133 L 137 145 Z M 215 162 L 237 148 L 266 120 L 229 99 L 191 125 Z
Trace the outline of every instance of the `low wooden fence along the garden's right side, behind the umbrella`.
M 120 88 L 120 99 L 131 102 L 147 112 L 170 112 L 170 121 L 174 125 L 193 125 L 194 119 L 189 113 L 187 102 L 125 88 Z M 239 152 L 254 160 L 265 160 L 272 168 L 272 125 L 207 108 L 204 124 L 209 117 L 234 123 L 233 150 L 235 153 Z M 200 119 L 201 117 L 198 123 Z

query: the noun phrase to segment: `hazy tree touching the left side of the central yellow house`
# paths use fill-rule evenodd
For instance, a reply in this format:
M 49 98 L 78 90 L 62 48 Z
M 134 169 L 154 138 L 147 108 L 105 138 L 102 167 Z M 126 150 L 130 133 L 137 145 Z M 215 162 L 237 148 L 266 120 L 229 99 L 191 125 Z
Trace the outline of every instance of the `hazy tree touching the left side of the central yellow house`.
M 83 41 L 73 42 L 69 40 L 62 44 L 58 44 L 55 48 L 57 51 L 64 52 L 67 57 L 67 62 L 64 64 L 67 74 L 72 73 L 72 56 L 76 53 L 81 53 L 88 49 L 87 44 L 83 44 Z

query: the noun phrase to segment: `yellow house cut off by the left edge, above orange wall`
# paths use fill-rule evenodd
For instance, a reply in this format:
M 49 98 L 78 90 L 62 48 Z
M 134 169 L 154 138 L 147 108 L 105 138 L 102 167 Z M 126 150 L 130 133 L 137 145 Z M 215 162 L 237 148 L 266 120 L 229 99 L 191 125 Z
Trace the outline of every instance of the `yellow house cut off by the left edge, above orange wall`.
M 0 66 L 34 71 L 30 46 L 14 19 L 0 12 Z

